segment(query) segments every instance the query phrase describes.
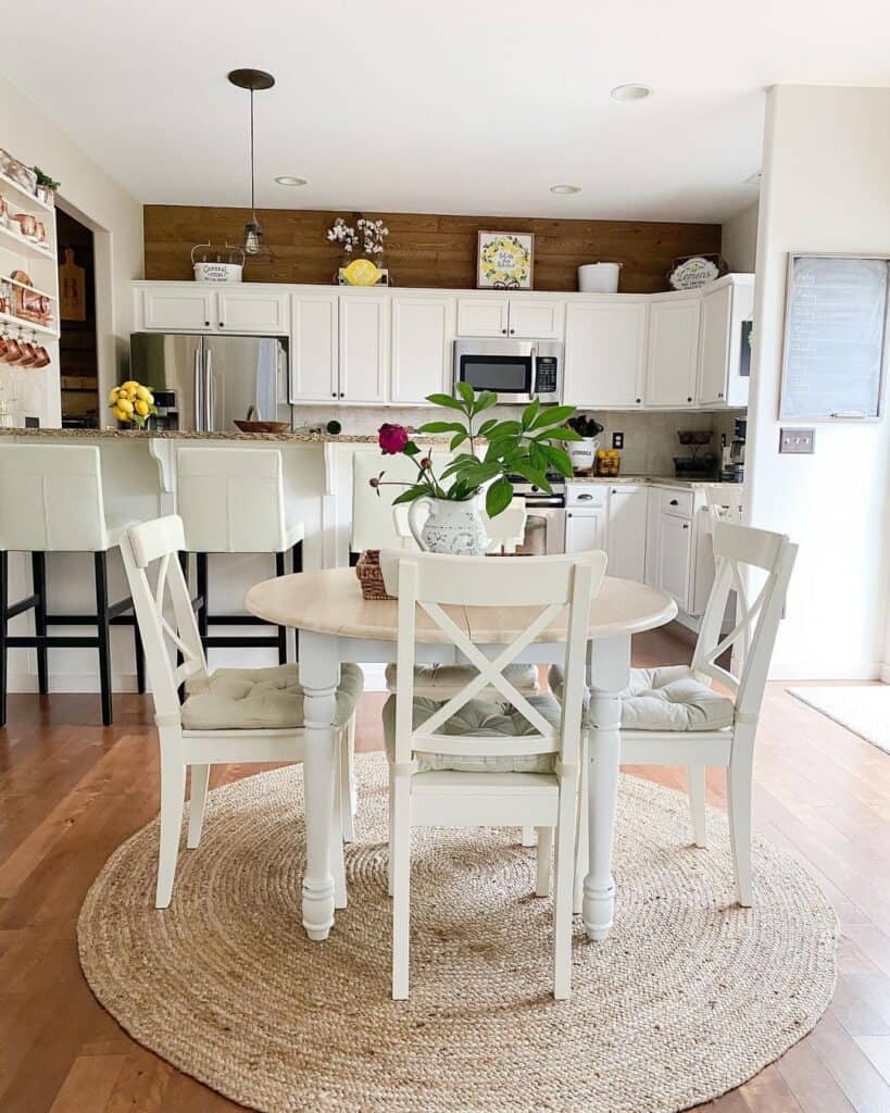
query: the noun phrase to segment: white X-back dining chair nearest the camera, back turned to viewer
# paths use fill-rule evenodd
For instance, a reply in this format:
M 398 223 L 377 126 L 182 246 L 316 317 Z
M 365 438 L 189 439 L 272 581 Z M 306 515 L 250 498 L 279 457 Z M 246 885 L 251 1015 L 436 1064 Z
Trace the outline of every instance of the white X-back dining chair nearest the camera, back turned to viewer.
M 394 554 L 395 555 L 395 554 Z M 555 828 L 554 996 L 571 985 L 572 878 L 584 663 L 591 599 L 605 553 L 564 556 L 398 559 L 398 692 L 384 708 L 390 761 L 389 863 L 393 893 L 393 997 L 408 995 L 411 828 Z M 505 609 L 523 605 L 511 619 Z M 474 624 L 521 630 L 488 659 L 467 634 Z M 451 612 L 446 608 L 455 608 Z M 449 698 L 417 696 L 415 622 L 424 611 L 476 670 Z M 565 615 L 565 705 L 524 696 L 507 668 Z M 506 629 L 512 630 L 510 626 Z M 496 637 L 492 641 L 497 641 Z M 494 689 L 495 697 L 486 696 Z M 545 840 L 540 839 L 540 845 Z M 538 870 L 540 873 L 540 870 Z

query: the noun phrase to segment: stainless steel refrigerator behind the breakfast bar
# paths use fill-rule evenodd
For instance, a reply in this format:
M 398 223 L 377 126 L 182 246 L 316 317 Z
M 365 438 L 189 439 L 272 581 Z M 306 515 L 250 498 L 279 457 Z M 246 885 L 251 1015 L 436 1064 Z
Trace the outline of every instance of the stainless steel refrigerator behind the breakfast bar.
M 134 333 L 130 377 L 168 395 L 167 427 L 235 432 L 234 420 L 250 406 L 263 421 L 291 423 L 287 347 L 278 336 Z

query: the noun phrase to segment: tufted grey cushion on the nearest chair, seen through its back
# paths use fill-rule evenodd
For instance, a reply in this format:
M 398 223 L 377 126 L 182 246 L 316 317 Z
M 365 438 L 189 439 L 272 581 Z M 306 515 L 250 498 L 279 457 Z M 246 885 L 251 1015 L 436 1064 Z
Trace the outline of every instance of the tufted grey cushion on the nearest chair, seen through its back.
M 383 708 L 383 729 L 386 756 L 395 760 L 396 751 L 396 699 L 390 696 Z M 414 728 L 423 723 L 444 703 L 425 696 L 414 699 Z M 530 696 L 528 702 L 558 730 L 562 710 L 550 695 Z M 483 735 L 487 738 L 515 738 L 535 735 L 534 727 L 515 708 L 503 700 L 472 699 L 451 717 L 438 731 L 442 735 Z M 479 741 L 478 755 L 466 754 L 417 754 L 418 772 L 553 772 L 555 754 L 518 754 L 492 756 L 485 752 L 485 742 Z

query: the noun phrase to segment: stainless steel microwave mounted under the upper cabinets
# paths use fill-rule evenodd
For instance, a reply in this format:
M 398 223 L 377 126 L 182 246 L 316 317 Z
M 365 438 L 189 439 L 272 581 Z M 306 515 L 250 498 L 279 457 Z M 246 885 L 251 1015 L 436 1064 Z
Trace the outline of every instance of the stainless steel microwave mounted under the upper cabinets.
M 454 342 L 454 386 L 494 391 L 501 403 L 526 405 L 533 398 L 558 402 L 563 346 L 558 341 L 478 339 Z

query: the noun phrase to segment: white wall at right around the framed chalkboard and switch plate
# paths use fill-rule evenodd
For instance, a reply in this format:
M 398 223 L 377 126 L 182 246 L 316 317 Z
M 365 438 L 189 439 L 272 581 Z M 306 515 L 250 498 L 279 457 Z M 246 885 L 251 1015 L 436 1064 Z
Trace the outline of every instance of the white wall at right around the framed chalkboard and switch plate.
M 890 425 L 820 423 L 780 456 L 788 254 L 890 256 L 890 89 L 778 86 L 764 134 L 745 501 L 800 554 L 773 676 L 877 677 L 890 580 Z

